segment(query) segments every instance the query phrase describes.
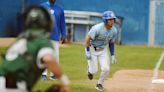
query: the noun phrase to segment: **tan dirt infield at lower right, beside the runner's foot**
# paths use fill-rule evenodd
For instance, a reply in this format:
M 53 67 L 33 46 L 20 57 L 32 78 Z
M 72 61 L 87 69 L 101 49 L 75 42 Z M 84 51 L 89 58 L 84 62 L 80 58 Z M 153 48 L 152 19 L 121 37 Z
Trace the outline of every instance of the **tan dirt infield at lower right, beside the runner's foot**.
M 164 92 L 164 84 L 152 84 L 152 70 L 121 70 L 105 81 L 105 92 Z M 164 71 L 159 71 L 164 79 Z

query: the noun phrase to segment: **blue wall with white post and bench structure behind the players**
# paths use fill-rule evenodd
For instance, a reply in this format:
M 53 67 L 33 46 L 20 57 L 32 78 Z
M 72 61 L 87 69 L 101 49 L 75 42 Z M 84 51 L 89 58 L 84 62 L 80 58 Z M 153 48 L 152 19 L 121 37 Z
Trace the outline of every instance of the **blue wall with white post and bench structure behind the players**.
M 0 37 L 15 37 L 21 32 L 20 14 L 26 6 L 47 0 L 1 0 Z M 90 27 L 101 22 L 101 14 L 112 10 L 117 15 L 117 43 L 164 46 L 164 0 L 57 0 L 63 6 L 67 41 L 84 42 Z

